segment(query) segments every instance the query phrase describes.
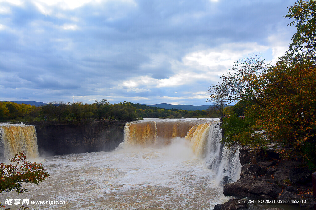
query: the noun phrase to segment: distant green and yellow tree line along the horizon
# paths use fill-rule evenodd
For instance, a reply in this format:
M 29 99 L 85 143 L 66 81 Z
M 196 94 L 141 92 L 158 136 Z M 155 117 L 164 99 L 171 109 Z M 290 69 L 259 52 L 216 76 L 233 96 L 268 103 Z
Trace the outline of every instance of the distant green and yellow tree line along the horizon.
M 33 122 L 40 120 L 117 119 L 132 121 L 142 118 L 216 118 L 215 111 L 161 109 L 121 102 L 111 104 L 106 99 L 92 104 L 82 102 L 49 102 L 39 107 L 14 102 L 0 102 L 0 121 Z

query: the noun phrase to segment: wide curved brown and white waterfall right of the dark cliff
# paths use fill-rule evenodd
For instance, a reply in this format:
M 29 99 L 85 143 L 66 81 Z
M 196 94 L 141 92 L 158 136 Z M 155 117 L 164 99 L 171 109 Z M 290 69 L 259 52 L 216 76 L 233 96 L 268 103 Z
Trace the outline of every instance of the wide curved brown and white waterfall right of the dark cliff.
M 176 137 L 190 142 L 194 153 L 216 174 L 223 185 L 239 179 L 241 164 L 238 148 L 225 149 L 222 129 L 215 119 L 147 119 L 125 125 L 125 142 L 129 145 L 163 146 Z

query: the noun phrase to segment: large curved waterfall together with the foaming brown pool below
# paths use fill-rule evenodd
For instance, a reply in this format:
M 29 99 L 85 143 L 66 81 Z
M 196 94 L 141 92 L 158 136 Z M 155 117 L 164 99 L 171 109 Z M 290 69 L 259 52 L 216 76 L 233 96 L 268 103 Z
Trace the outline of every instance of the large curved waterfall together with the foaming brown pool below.
M 220 137 L 211 119 L 129 123 L 125 142 L 111 152 L 38 158 L 50 178 L 0 202 L 30 199 L 31 209 L 213 209 L 227 199 L 221 182 L 234 181 L 239 170 Z

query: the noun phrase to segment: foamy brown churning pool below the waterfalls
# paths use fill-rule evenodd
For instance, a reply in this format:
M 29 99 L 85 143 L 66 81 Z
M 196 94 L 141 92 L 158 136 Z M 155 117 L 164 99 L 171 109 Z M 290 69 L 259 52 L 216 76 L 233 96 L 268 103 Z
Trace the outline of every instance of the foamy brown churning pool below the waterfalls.
M 111 152 L 52 156 L 43 166 L 49 179 L 5 198 L 66 201 L 31 209 L 213 209 L 225 199 L 213 171 L 183 138 L 161 148 L 122 143 Z

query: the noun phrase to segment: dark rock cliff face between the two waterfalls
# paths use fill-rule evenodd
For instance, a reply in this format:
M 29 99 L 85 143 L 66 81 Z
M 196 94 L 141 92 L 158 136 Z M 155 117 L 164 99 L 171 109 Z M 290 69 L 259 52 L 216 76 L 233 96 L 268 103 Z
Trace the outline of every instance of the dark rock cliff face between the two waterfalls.
M 40 155 L 110 151 L 124 141 L 123 121 L 33 122 Z

